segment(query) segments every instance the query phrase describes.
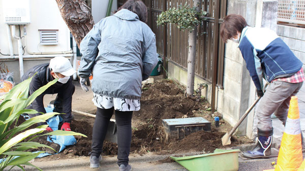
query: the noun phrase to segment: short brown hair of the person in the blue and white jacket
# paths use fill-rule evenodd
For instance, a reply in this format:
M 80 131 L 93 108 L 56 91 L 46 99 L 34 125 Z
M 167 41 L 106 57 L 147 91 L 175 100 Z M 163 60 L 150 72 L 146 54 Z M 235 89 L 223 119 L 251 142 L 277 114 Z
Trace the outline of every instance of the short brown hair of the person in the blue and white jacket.
M 242 32 L 242 29 L 248 26 L 245 18 L 241 15 L 230 14 L 224 18 L 224 23 L 222 23 L 220 28 L 221 38 L 227 42 L 228 39 L 231 39 L 238 32 Z

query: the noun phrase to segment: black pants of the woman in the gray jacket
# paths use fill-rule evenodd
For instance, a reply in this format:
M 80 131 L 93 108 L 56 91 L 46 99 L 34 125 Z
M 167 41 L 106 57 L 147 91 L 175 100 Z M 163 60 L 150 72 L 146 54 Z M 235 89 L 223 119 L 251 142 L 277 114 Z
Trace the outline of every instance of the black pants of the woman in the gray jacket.
M 99 157 L 102 153 L 103 143 L 107 133 L 109 120 L 114 108 L 98 108 L 92 133 L 92 155 Z M 127 165 L 131 144 L 131 118 L 133 111 L 115 110 L 115 122 L 117 126 L 117 164 Z

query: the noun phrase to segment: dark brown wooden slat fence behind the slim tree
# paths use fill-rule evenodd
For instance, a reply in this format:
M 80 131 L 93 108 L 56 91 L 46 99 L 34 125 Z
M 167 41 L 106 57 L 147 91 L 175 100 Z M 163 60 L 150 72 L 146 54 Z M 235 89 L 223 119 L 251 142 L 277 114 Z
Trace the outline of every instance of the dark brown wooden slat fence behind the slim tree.
M 126 0 L 118 0 L 118 6 Z M 188 32 L 176 28 L 172 24 L 157 26 L 157 17 L 162 11 L 172 7 L 193 6 L 190 0 L 143 0 L 147 6 L 147 25 L 156 34 L 157 52 L 177 65 L 187 68 Z M 208 0 L 202 3 L 203 11 L 207 11 L 206 20 L 198 26 L 197 53 L 195 73 L 202 79 L 223 86 L 224 42 L 219 36 L 219 26 L 226 14 L 226 1 Z M 166 31 L 164 31 L 166 30 Z M 164 55 L 165 54 L 165 55 Z M 217 65 L 213 65 L 213 64 Z M 214 67 L 216 66 L 216 67 Z M 213 75 L 217 75 L 214 77 Z

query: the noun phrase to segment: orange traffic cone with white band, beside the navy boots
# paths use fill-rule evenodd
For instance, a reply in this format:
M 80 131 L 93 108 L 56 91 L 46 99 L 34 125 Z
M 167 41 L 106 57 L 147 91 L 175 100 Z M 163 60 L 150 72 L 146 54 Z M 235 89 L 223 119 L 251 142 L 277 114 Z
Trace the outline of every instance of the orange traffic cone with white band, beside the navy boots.
M 301 125 L 297 97 L 290 100 L 288 118 L 279 152 L 277 170 L 297 170 L 302 164 Z

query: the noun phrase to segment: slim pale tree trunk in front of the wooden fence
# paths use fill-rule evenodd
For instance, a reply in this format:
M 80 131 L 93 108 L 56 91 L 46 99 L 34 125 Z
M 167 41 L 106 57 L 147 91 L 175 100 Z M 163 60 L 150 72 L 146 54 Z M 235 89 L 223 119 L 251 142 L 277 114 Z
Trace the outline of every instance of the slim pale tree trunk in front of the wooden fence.
M 196 11 L 201 10 L 200 0 L 194 0 Z M 189 32 L 189 54 L 188 54 L 188 82 L 187 82 L 187 97 L 193 97 L 194 94 L 194 79 L 195 79 L 195 62 L 196 62 L 196 44 L 197 44 L 197 27 Z

